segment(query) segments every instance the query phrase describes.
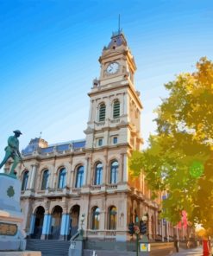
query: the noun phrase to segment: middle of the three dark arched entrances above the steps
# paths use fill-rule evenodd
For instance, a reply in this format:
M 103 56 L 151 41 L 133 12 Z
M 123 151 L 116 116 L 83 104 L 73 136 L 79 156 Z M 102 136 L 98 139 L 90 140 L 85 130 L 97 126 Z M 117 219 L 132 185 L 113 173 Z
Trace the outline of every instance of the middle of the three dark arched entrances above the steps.
M 58 240 L 60 238 L 60 225 L 62 217 L 62 208 L 60 206 L 55 206 L 52 212 L 52 223 L 51 223 L 51 238 L 53 240 Z

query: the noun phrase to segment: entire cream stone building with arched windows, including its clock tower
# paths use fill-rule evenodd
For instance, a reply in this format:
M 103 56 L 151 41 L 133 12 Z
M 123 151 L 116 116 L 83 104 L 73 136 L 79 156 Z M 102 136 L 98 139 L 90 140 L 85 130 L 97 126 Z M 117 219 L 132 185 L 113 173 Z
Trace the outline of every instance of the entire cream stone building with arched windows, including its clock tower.
M 141 150 L 141 99 L 135 60 L 121 31 L 103 48 L 100 78 L 88 93 L 85 140 L 48 145 L 34 138 L 22 150 L 23 227 L 41 239 L 69 239 L 85 214 L 88 239 L 129 240 L 128 223 L 148 214 L 150 239 L 172 235 L 159 221 L 160 197 L 152 201 L 144 176 L 131 179 L 128 157 Z M 7 168 L 6 168 L 7 169 Z

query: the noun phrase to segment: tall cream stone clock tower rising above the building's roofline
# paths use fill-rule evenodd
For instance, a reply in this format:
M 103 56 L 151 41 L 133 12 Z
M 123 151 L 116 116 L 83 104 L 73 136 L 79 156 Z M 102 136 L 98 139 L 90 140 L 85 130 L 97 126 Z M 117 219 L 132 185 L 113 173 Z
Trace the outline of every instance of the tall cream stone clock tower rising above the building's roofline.
M 93 80 L 85 149 L 141 149 L 141 99 L 135 90 L 135 60 L 122 31 L 113 33 L 99 58 L 99 80 Z

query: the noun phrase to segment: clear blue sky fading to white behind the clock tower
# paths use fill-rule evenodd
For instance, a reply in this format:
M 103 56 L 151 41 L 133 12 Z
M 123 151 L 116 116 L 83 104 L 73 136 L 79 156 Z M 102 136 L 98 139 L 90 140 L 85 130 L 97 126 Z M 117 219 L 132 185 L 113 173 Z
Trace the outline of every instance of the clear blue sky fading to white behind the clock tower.
M 21 149 L 41 131 L 49 144 L 85 138 L 87 93 L 118 14 L 137 65 L 145 141 L 163 85 L 202 56 L 213 60 L 211 0 L 0 0 L 1 158 L 15 129 Z

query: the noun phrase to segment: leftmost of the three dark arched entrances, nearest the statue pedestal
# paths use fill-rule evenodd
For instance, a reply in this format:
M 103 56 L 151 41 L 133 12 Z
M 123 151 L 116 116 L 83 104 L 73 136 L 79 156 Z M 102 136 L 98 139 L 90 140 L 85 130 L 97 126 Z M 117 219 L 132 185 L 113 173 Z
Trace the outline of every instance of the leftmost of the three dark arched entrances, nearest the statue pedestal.
M 34 221 L 34 234 L 32 234 L 32 238 L 40 239 L 44 221 L 44 213 L 45 209 L 42 206 L 36 208 L 35 214 L 35 221 Z

